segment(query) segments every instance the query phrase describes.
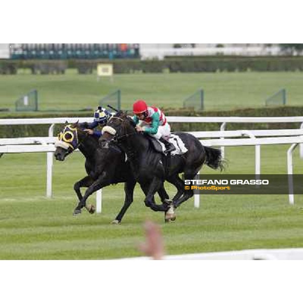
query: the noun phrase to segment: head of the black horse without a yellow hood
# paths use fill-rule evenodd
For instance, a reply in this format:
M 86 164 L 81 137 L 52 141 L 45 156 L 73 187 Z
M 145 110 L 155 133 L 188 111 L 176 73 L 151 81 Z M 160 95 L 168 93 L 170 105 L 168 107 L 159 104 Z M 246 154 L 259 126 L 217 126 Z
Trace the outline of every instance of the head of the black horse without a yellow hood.
M 120 141 L 134 133 L 136 133 L 136 130 L 132 118 L 127 116 L 126 112 L 119 111 L 102 129 L 102 136 L 99 138 L 99 141 L 102 147 L 108 148 L 110 141 Z

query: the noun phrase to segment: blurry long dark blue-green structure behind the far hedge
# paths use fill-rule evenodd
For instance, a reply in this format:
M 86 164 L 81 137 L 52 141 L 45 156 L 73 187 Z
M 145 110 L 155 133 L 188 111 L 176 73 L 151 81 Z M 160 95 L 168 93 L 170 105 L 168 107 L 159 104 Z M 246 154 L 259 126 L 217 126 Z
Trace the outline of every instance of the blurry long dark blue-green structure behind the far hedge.
M 12 43 L 11 59 L 134 59 L 137 43 Z

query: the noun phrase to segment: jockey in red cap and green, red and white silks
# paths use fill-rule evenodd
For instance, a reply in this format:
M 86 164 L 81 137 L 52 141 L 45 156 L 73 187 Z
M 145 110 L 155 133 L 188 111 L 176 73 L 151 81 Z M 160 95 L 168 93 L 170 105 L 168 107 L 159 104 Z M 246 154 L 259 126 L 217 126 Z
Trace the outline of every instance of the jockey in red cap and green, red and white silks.
M 144 100 L 137 100 L 133 105 L 133 112 L 135 114 L 133 120 L 138 125 L 136 127 L 137 131 L 143 131 L 143 133 L 164 143 L 166 153 L 176 149 L 175 146 L 168 141 L 171 129 L 164 113 L 160 109 L 147 106 Z

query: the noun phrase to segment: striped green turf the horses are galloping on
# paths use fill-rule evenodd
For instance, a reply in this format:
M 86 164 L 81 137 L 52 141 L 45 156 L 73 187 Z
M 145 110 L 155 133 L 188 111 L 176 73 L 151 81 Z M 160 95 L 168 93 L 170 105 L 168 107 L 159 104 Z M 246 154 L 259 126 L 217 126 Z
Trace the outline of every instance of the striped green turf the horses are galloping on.
M 262 146 L 262 173 L 286 173 L 289 146 Z M 254 147 L 227 147 L 225 173 L 254 173 Z M 103 213 L 73 217 L 73 183 L 84 176 L 80 153 L 54 163 L 54 197 L 45 197 L 45 154 L 4 155 L 0 159 L 0 259 L 113 259 L 140 256 L 142 224 L 151 219 L 162 227 L 168 254 L 254 248 L 303 246 L 303 198 L 295 205 L 287 195 L 205 195 L 201 207 L 193 198 L 177 210 L 177 220 L 163 222 L 163 214 L 147 209 L 136 187 L 134 203 L 121 225 L 110 222 L 122 206 L 123 185 L 103 190 Z M 303 161 L 294 154 L 294 173 Z M 206 174 L 216 173 L 204 168 Z M 175 189 L 166 184 L 172 196 Z M 159 201 L 159 199 L 158 199 Z M 88 200 L 95 203 L 93 195 Z

